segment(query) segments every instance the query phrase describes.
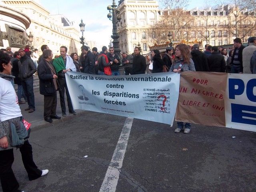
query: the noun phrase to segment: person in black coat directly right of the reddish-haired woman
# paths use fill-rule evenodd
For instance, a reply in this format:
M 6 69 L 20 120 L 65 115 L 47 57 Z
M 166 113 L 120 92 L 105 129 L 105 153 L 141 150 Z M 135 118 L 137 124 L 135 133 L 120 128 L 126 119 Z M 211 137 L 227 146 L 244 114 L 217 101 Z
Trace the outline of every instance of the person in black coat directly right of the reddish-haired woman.
M 199 44 L 194 44 L 192 48 L 191 55 L 196 71 L 209 71 L 207 57 L 199 50 Z

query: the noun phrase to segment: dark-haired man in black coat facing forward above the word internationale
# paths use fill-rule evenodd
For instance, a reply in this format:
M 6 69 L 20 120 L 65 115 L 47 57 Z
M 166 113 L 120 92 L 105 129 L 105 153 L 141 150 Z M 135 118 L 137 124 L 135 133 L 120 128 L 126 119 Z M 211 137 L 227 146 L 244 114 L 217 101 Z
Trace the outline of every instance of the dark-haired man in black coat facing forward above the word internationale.
M 132 59 L 132 74 L 144 74 L 146 71 L 146 58 L 140 54 L 140 48 L 134 48 L 134 57 Z

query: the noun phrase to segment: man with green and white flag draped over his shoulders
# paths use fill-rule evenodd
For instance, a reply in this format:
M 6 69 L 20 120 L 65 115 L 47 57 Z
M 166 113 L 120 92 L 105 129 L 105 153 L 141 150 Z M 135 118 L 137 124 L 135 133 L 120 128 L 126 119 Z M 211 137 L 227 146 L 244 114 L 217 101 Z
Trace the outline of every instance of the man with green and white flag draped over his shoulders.
M 60 82 L 59 93 L 60 93 L 60 107 L 62 111 L 62 116 L 67 116 L 66 104 L 65 104 L 65 90 L 66 90 L 66 96 L 68 101 L 68 111 L 73 115 L 76 114 L 71 103 L 71 98 L 68 92 L 68 86 L 65 78 L 65 73 L 67 71 L 76 71 L 76 66 L 74 65 L 72 58 L 69 55 L 67 55 L 67 52 L 68 52 L 68 48 L 65 46 L 61 46 L 60 56 L 53 60 L 53 66 L 56 70 L 56 73 L 58 74 L 58 80 Z

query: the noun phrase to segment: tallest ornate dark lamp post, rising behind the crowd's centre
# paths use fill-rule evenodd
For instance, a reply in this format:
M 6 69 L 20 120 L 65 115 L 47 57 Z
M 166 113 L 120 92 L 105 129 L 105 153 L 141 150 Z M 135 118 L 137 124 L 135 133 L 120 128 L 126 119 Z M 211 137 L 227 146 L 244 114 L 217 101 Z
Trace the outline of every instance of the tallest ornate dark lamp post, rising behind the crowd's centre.
M 111 20 L 112 18 L 112 24 L 113 24 L 113 35 L 111 36 L 111 38 L 113 39 L 113 47 L 114 47 L 114 53 L 115 54 L 120 54 L 121 50 L 119 49 L 119 35 L 117 33 L 117 23 L 120 22 L 121 20 L 121 16 L 120 16 L 120 11 L 116 9 L 117 5 L 115 3 L 115 0 L 113 0 L 113 4 L 109 5 L 107 7 L 107 9 L 109 10 L 109 14 L 107 15 L 107 17 L 109 18 L 109 20 Z

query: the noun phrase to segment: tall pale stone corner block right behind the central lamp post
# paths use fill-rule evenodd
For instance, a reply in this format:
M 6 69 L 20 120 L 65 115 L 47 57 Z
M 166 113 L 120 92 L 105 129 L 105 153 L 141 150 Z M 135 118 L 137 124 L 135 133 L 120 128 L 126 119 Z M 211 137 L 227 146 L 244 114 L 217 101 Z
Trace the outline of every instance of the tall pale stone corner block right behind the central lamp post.
M 148 35 L 150 26 L 159 20 L 156 0 L 120 0 L 118 10 L 122 20 L 118 22 L 119 48 L 131 54 L 134 47 L 141 46 L 142 53 L 149 52 L 152 38 Z

